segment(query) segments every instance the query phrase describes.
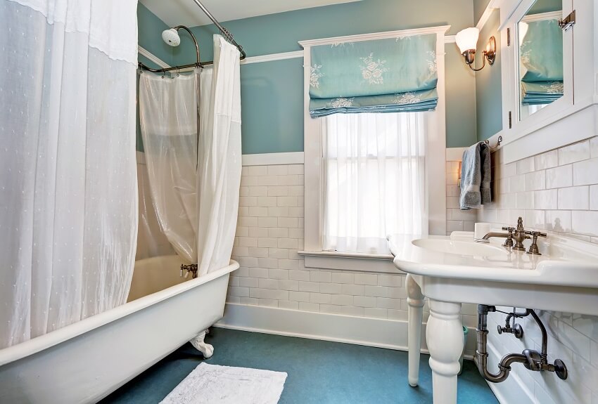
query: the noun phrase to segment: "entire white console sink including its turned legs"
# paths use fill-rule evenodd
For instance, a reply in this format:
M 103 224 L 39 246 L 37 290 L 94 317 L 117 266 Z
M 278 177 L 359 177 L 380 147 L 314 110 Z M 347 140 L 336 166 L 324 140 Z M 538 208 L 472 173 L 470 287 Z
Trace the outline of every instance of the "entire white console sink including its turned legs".
M 462 303 L 598 315 L 598 245 L 549 235 L 538 242 L 542 255 L 537 256 L 512 252 L 502 241 L 478 244 L 473 233 L 463 232 L 388 237 L 395 266 L 407 273 L 412 386 L 419 379 L 424 297 L 430 301 L 426 342 L 434 404 L 457 402 Z

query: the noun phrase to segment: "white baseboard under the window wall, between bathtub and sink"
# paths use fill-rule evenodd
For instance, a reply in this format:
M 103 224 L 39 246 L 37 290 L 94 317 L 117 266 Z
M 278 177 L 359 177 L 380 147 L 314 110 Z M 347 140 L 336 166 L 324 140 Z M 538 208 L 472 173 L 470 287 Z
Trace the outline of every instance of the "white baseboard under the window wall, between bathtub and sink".
M 215 327 L 407 351 L 407 321 L 401 320 L 227 303 Z M 428 353 L 422 339 L 421 352 Z

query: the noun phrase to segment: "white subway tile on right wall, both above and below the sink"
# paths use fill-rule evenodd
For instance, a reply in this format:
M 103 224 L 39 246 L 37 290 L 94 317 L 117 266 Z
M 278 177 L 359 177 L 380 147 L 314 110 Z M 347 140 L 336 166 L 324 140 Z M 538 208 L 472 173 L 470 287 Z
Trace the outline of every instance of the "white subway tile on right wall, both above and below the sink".
M 526 228 L 598 242 L 598 137 L 511 164 L 502 164 L 501 157 L 502 150 L 492 154 L 493 203 L 480 209 L 474 220 L 500 228 L 514 225 L 521 216 Z M 512 372 L 530 387 L 538 403 L 597 404 L 598 317 L 548 311 L 541 317 L 549 334 L 549 361 L 564 360 L 569 378 L 561 381 L 554 374 L 521 366 L 513 366 Z M 521 320 L 521 340 L 493 332 L 497 324 L 504 325 L 504 315 L 491 313 L 489 341 L 500 355 L 540 350 L 533 320 Z

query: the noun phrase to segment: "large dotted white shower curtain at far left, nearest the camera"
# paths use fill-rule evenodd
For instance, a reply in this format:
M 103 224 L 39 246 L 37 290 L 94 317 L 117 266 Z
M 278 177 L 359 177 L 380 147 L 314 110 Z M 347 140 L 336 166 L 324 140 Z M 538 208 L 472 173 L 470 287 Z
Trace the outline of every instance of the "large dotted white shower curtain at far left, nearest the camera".
M 136 5 L 0 2 L 0 348 L 127 299 Z

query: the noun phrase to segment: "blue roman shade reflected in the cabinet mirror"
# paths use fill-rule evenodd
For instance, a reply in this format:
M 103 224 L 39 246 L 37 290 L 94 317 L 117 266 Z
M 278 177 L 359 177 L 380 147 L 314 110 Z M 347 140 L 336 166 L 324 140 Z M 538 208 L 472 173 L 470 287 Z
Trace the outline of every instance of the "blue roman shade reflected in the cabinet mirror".
M 521 41 L 519 56 L 523 66 L 521 103 L 552 103 L 564 93 L 563 32 L 556 19 L 530 21 L 525 24 L 527 30 Z

